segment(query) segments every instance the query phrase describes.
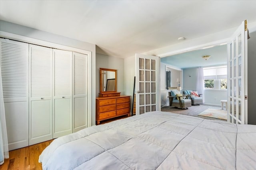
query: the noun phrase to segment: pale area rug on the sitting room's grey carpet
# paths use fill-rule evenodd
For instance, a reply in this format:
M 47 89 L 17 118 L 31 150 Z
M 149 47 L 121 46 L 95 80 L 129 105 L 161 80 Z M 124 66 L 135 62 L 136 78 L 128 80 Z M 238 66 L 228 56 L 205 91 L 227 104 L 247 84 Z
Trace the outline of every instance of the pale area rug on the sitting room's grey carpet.
M 202 111 L 198 115 L 213 117 L 216 119 L 223 119 L 223 120 L 227 119 L 227 111 L 222 109 L 206 109 L 205 111 Z

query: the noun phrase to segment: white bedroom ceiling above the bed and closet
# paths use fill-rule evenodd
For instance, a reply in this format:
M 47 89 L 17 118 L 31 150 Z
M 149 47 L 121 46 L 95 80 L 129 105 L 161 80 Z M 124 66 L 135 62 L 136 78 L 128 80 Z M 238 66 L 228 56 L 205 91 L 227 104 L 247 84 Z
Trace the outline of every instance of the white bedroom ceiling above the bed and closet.
M 131 57 L 256 21 L 256 0 L 0 0 L 0 20 Z M 186 41 L 185 40 L 185 41 Z

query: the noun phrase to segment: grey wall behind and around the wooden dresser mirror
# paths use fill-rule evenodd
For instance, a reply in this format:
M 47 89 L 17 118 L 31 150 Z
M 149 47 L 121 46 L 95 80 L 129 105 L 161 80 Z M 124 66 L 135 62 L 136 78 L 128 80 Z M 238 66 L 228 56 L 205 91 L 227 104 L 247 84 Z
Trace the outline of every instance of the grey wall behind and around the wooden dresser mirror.
M 96 96 L 100 92 L 100 68 L 117 70 L 117 92 L 124 95 L 124 59 L 96 53 Z

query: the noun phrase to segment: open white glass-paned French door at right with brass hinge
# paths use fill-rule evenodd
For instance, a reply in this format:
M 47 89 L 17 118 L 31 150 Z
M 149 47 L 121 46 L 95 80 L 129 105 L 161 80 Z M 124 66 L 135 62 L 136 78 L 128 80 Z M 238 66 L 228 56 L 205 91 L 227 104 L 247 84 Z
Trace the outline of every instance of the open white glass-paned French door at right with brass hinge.
M 228 122 L 247 124 L 247 21 L 228 43 Z

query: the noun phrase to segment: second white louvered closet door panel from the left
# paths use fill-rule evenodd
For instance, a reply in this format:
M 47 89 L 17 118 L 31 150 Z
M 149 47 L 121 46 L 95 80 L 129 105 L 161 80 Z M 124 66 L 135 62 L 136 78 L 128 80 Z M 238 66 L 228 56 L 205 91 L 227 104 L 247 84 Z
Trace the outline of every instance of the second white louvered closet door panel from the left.
M 52 49 L 29 45 L 29 145 L 52 139 Z

